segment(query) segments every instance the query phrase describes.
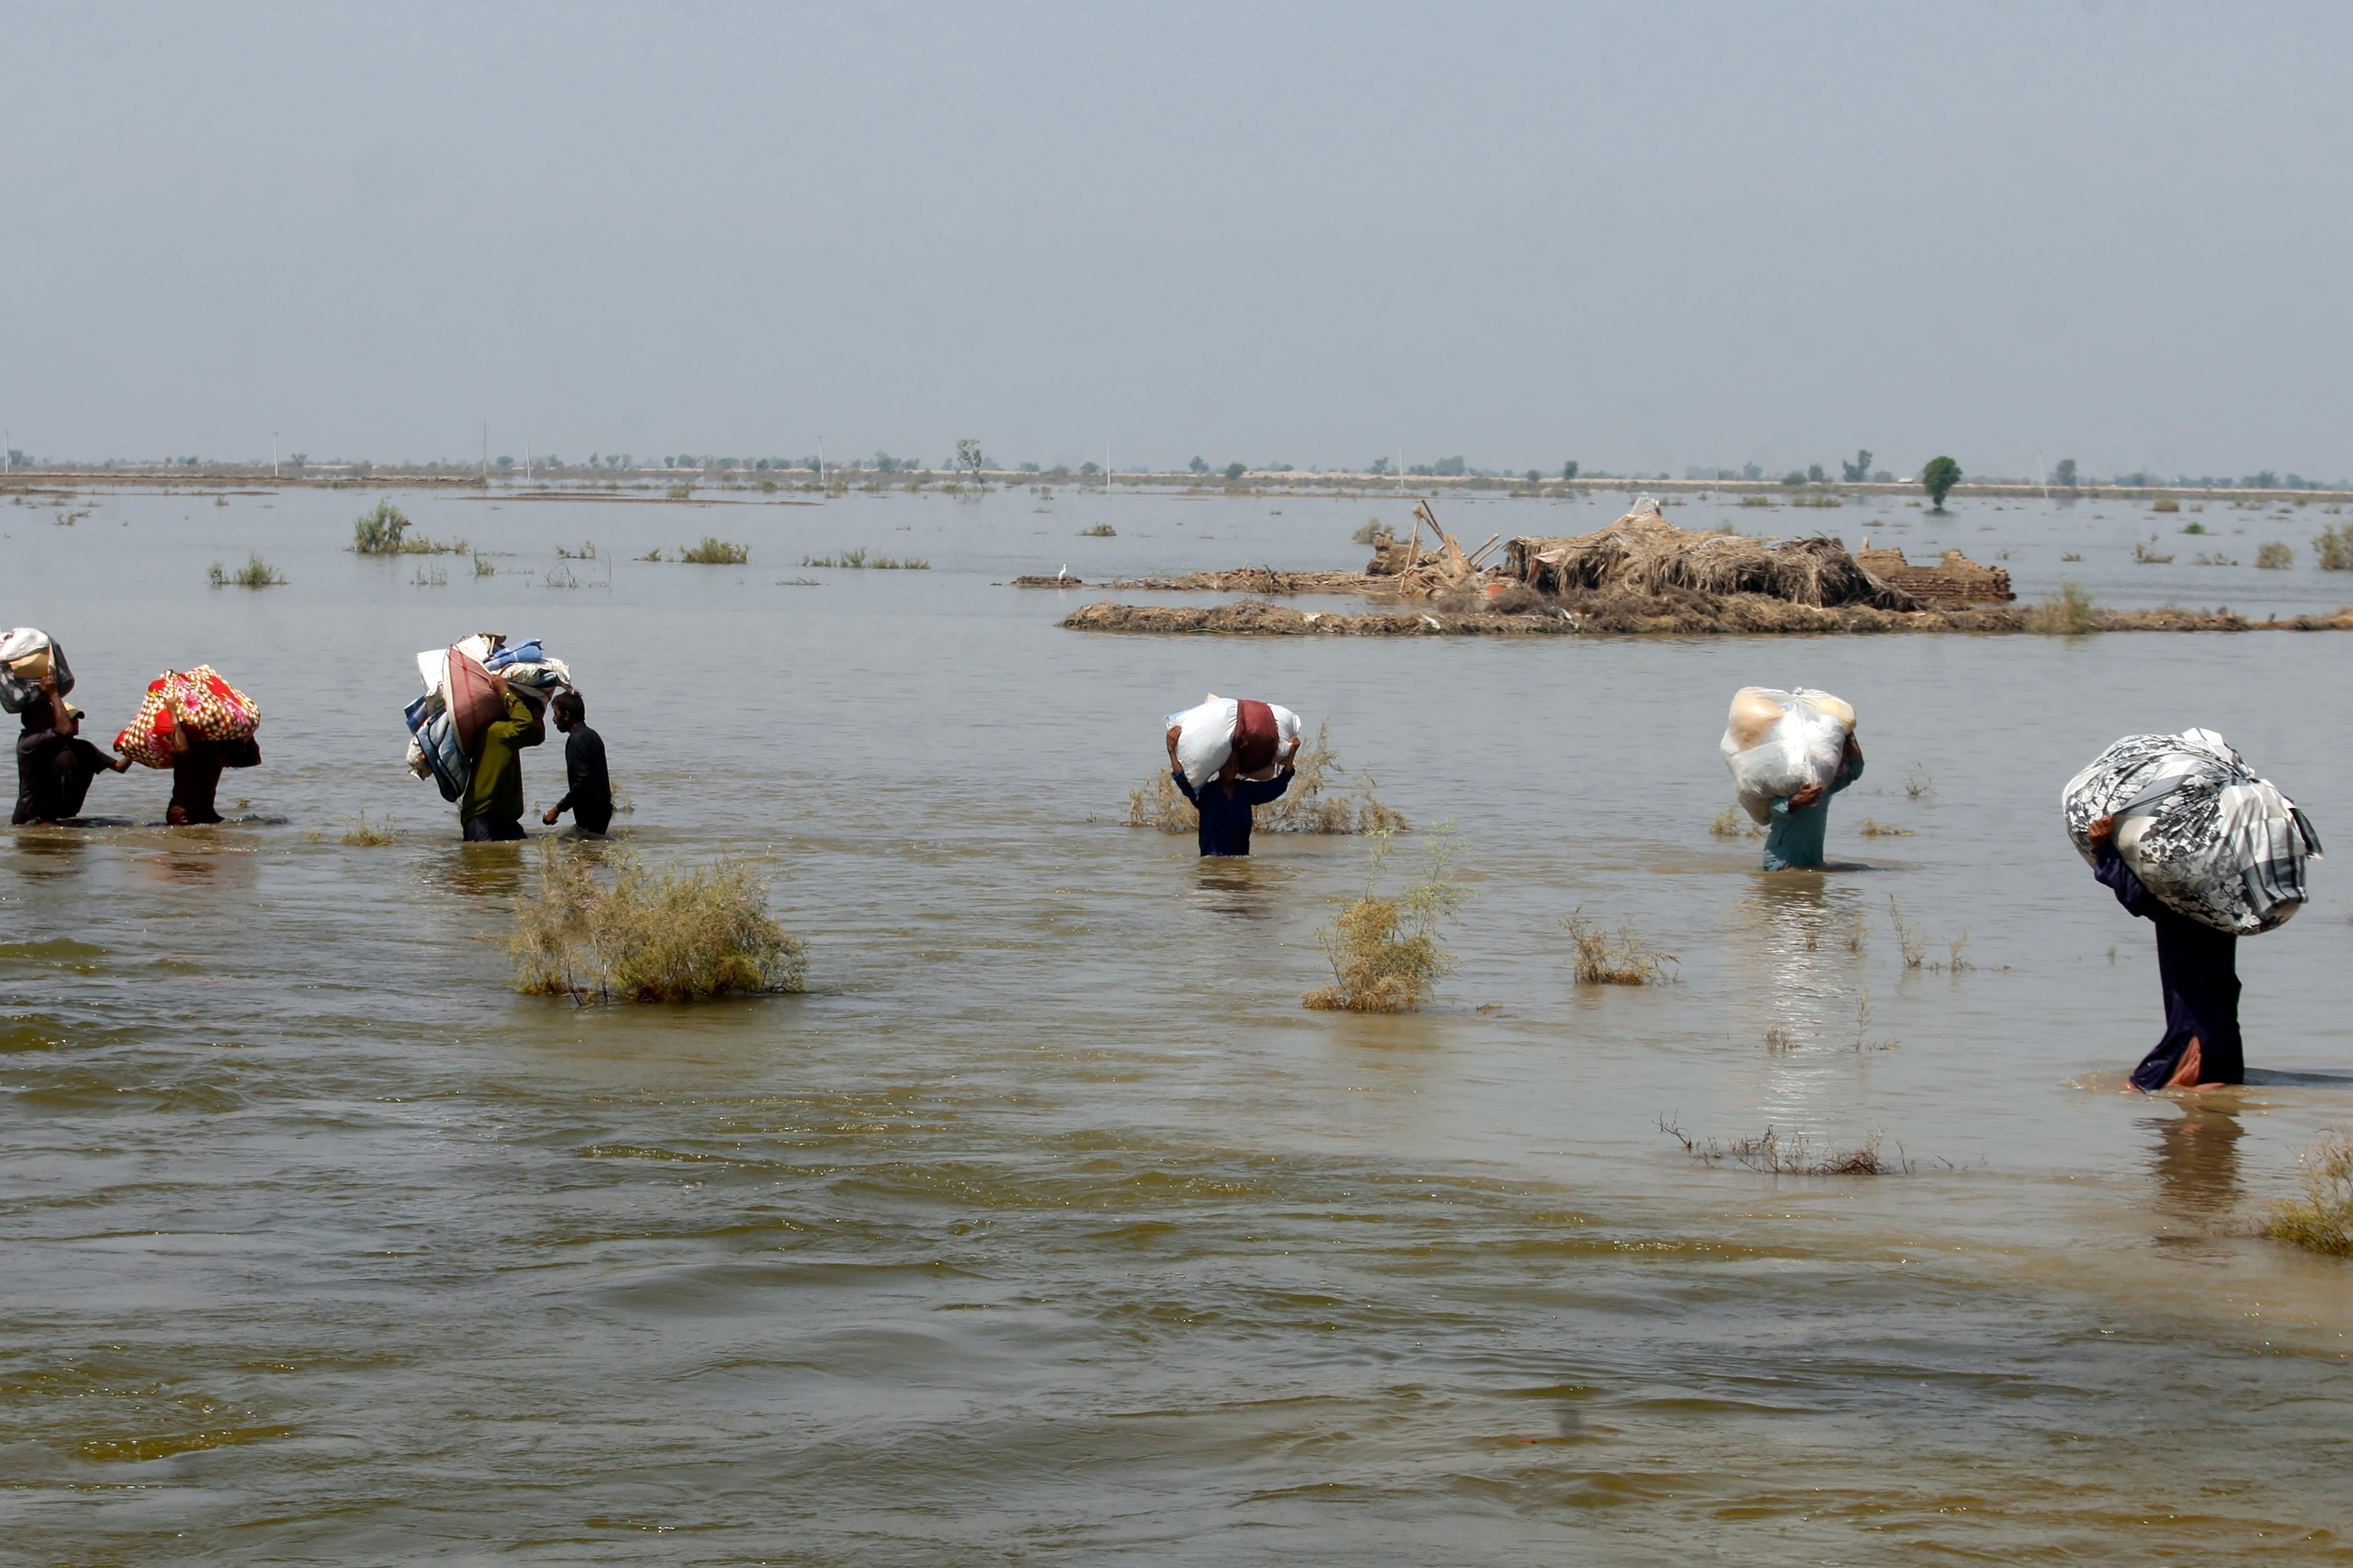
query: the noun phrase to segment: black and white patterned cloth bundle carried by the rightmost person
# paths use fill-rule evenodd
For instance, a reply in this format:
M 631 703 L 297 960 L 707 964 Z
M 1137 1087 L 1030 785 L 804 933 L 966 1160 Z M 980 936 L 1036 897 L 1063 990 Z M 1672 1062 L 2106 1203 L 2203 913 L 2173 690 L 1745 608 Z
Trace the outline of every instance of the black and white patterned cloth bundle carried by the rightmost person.
M 2254 936 L 2285 926 L 2311 898 L 2304 863 L 2320 858 L 2311 818 L 2212 729 L 2125 736 L 2059 802 L 2085 860 L 2092 823 L 2113 816 L 2115 853 L 2132 875 L 2198 924 Z

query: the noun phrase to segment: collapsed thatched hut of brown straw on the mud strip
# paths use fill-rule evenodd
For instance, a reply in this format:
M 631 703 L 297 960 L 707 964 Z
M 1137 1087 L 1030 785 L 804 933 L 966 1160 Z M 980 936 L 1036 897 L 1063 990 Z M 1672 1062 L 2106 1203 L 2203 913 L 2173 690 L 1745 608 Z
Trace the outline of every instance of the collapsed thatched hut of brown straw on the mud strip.
M 1694 588 L 1708 595 L 1755 592 L 1791 604 L 1920 609 L 1908 592 L 1854 564 L 1835 538 L 1692 534 L 1661 517 L 1659 503 L 1647 498 L 1593 534 L 1511 541 L 1504 545 L 1504 571 L 1539 592 Z

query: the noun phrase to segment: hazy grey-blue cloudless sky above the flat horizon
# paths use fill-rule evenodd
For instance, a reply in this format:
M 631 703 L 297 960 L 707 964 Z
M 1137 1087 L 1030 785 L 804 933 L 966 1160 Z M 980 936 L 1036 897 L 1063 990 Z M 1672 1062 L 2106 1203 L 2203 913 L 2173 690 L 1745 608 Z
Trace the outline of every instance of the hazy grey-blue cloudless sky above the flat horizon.
M 2353 473 L 2353 7 L 9 5 L 54 456 Z

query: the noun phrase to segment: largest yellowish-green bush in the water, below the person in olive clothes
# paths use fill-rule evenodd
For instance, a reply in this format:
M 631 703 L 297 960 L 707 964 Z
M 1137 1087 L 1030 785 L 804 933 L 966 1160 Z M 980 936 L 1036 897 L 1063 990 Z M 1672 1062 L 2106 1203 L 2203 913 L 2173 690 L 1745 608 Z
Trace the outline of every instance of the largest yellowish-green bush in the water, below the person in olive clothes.
M 753 865 L 713 860 L 654 875 L 607 851 L 612 886 L 584 849 L 539 844 L 539 898 L 515 912 L 515 990 L 598 1001 L 701 1001 L 798 992 L 807 947 L 767 914 Z

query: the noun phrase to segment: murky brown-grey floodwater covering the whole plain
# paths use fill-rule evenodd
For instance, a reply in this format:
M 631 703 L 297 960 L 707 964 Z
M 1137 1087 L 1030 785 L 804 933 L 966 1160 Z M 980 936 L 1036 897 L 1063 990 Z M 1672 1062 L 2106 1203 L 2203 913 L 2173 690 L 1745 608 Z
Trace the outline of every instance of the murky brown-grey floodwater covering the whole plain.
M 1096 595 L 993 583 L 1339 567 L 1405 508 L 395 498 L 496 576 L 344 552 L 360 489 L 0 505 L 0 621 L 66 642 L 92 729 L 195 661 L 266 710 L 224 780 L 259 823 L 144 825 L 139 771 L 94 788 L 120 825 L 0 837 L 0 1556 L 2353 1559 L 2353 1272 L 2247 1234 L 2353 1117 L 2353 884 L 2242 945 L 2264 1081 L 2127 1095 L 2153 943 L 2057 818 L 2111 738 L 2209 724 L 2353 853 L 2353 642 L 1082 637 Z M 1438 505 L 1473 543 L 1621 501 Z M 2318 505 L 1711 505 L 1675 515 L 2009 550 L 2026 597 L 2353 597 Z M 704 534 L 751 564 L 631 559 Z M 2191 564 L 2273 536 L 2294 569 Z M 795 564 L 849 545 L 932 569 Z M 247 550 L 289 585 L 205 585 Z M 534 851 L 461 849 L 400 762 L 412 651 L 473 630 L 572 661 L 642 853 L 774 870 L 809 994 L 508 990 Z M 1847 870 L 1708 835 L 1748 682 L 1854 701 Z M 1122 825 L 1212 689 L 1454 823 L 1424 1013 L 1299 1006 L 1362 839 Z M 1680 980 L 1579 990 L 1579 907 Z M 1908 1166 L 1758 1175 L 1661 1121 Z

